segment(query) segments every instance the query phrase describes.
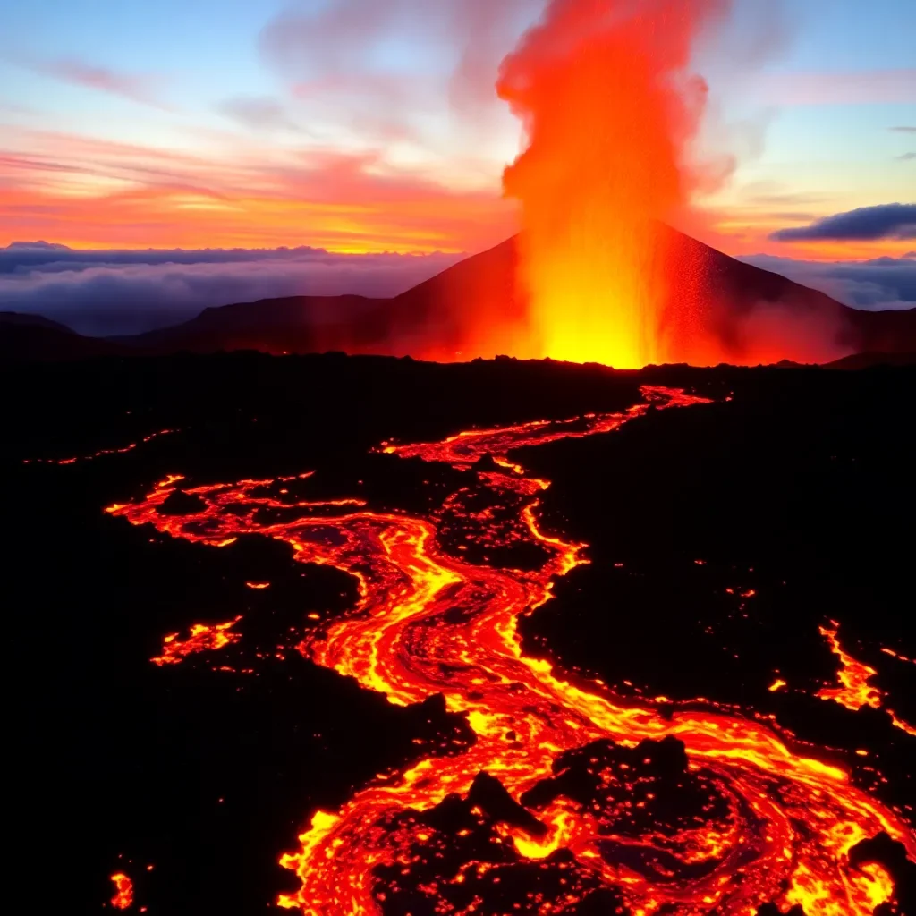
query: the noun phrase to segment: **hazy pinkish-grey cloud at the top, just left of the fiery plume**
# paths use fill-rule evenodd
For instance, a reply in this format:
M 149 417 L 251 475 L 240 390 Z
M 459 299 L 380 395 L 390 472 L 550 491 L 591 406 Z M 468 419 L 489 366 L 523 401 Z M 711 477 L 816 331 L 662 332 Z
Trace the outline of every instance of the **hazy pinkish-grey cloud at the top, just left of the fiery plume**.
M 263 30 L 267 64 L 303 103 L 383 140 L 424 133 L 428 115 L 451 114 L 472 133 L 494 114 L 499 61 L 542 0 L 338 0 L 318 12 L 288 10 Z M 423 49 L 439 72 L 405 72 L 398 42 Z

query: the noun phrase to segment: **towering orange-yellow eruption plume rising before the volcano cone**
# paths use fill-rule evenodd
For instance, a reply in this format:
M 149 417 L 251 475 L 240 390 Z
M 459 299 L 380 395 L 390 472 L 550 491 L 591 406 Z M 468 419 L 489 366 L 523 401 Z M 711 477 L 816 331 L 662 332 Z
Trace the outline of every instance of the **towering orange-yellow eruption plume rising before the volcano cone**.
M 552 0 L 504 60 L 500 96 L 528 148 L 506 170 L 521 202 L 529 341 L 515 355 L 632 368 L 674 361 L 700 330 L 693 278 L 672 276 L 660 221 L 697 184 L 685 147 L 706 87 L 692 44 L 727 0 Z M 666 313 L 671 289 L 674 311 Z

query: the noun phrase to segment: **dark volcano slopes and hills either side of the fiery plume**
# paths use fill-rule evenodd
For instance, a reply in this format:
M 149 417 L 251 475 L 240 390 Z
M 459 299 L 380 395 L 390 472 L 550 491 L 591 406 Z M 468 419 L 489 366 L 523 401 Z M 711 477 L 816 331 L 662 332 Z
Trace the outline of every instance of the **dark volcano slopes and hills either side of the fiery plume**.
M 916 310 L 851 309 L 780 274 L 665 231 L 674 278 L 666 305 L 675 316 L 672 333 L 685 361 L 708 362 L 701 342 L 709 338 L 716 342 L 716 359 L 736 363 L 782 358 L 827 363 L 843 354 L 916 352 Z M 243 302 L 105 343 L 118 352 L 153 354 L 344 351 L 440 361 L 511 354 L 513 329 L 526 306 L 515 282 L 517 265 L 512 238 L 394 299 L 301 296 Z M 761 348 L 760 340 L 770 338 L 776 343 Z

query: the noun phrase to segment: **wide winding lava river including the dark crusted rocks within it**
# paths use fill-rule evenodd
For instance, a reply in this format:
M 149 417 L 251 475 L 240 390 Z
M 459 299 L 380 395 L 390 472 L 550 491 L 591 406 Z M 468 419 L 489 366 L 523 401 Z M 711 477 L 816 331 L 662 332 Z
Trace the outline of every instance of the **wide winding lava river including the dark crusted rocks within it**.
M 587 561 L 585 545 L 541 529 L 549 484 L 508 453 L 615 431 L 652 406 L 704 402 L 670 388 L 642 393 L 620 414 L 381 446 L 474 468 L 474 484 L 429 518 L 368 511 L 357 500 L 298 502 L 294 485 L 256 480 L 187 489 L 197 511 L 160 513 L 175 477 L 106 510 L 204 545 L 267 536 L 289 544 L 298 562 L 354 576 L 356 606 L 300 651 L 390 703 L 442 694 L 474 731 L 463 752 L 380 775 L 340 811 L 315 812 L 300 847 L 281 857 L 300 886 L 280 906 L 310 916 L 548 914 L 594 898 L 597 911 L 633 916 L 753 916 L 768 902 L 852 916 L 893 900 L 885 867 L 850 852 L 884 832 L 916 859 L 916 836 L 845 769 L 758 720 L 709 704 L 671 713 L 623 701 L 522 653 L 519 616 Z M 461 527 L 464 558 L 442 546 L 446 525 Z M 529 545 L 542 562 L 498 568 L 477 552 L 511 544 Z M 236 638 L 233 626 L 170 636 L 157 661 L 220 649 Z

